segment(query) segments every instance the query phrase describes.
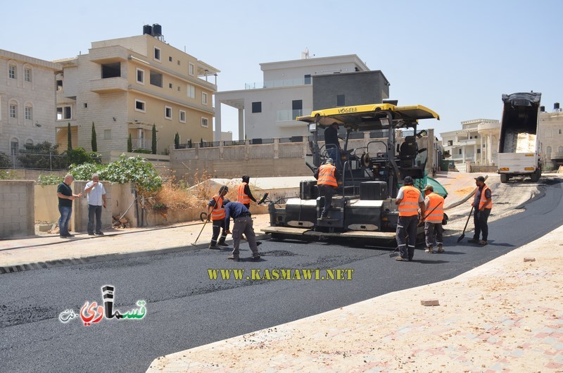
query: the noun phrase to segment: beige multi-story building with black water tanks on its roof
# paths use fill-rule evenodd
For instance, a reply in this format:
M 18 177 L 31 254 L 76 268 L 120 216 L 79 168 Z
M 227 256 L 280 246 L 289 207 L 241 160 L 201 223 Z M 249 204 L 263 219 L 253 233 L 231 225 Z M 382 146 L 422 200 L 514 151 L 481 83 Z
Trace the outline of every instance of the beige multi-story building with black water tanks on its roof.
M 57 143 L 91 148 L 94 122 L 100 153 L 151 149 L 157 130 L 157 153 L 174 143 L 213 139 L 213 94 L 217 70 L 163 41 L 160 25 L 144 34 L 92 42 L 89 53 L 56 61 Z M 214 82 L 208 78 L 215 77 Z

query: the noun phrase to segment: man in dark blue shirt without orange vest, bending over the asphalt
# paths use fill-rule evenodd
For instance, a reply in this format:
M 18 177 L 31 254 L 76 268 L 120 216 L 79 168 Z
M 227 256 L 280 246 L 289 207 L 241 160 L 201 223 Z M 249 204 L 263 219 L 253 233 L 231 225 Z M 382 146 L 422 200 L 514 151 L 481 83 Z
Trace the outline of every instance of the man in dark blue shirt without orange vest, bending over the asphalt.
M 229 230 L 230 219 L 234 220 L 233 232 Z M 227 234 L 233 236 L 233 253 L 228 259 L 239 261 L 239 245 L 241 244 L 242 234 L 248 239 L 248 246 L 252 251 L 252 257 L 260 259 L 258 246 L 256 246 L 256 235 L 254 234 L 253 222 L 250 211 L 240 202 L 229 202 L 224 205 L 224 225 Z

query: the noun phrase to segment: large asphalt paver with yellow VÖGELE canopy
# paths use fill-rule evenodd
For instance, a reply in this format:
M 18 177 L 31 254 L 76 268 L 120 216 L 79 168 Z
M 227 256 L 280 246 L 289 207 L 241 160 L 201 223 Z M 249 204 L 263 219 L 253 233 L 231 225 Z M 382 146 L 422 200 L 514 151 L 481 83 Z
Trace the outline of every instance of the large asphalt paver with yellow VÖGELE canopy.
M 342 171 L 339 187 L 328 217 L 323 218 L 324 196 L 320 196 L 316 181 L 301 182 L 298 197 L 270 201 L 270 227 L 262 231 L 272 239 L 342 238 L 369 240 L 381 246 L 393 244 L 398 221 L 394 198 L 405 177 L 415 179 L 415 187 L 421 191 L 426 184 L 433 184 L 434 191 L 447 196 L 441 184 L 425 171 L 428 149 L 417 144 L 424 136 L 424 129 L 417 131 L 418 122 L 430 118 L 439 120 L 429 108 L 397 106 L 396 101 L 315 110 L 296 118 L 305 122 L 312 134 L 305 160 L 312 173 L 332 154 L 327 144 L 320 146 L 318 132 L 334 122 L 346 128 L 341 156 L 334 160 Z M 397 132 L 405 129 L 412 129 L 412 135 L 398 144 Z M 350 135 L 365 131 L 379 131 L 385 137 L 348 148 Z

